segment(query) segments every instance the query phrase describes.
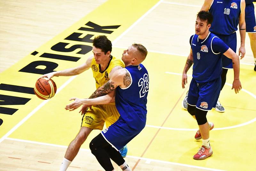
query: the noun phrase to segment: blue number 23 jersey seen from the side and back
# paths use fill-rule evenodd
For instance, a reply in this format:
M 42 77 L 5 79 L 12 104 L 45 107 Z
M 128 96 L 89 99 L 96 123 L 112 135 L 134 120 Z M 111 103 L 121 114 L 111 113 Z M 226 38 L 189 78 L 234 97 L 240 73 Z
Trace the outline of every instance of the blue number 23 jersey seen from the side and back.
M 116 109 L 132 129 L 143 129 L 147 114 L 148 71 L 142 64 L 131 65 L 125 69 L 129 72 L 132 82 L 125 89 L 116 88 Z

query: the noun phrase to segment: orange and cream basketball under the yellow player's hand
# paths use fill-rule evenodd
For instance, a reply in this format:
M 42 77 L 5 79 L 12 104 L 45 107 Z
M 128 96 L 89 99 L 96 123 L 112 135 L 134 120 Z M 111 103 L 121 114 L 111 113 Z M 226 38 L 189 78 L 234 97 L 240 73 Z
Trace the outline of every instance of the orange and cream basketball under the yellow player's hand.
M 55 95 L 56 90 L 57 87 L 55 82 L 52 79 L 47 81 L 47 78 L 38 79 L 34 87 L 35 95 L 43 100 L 52 98 Z

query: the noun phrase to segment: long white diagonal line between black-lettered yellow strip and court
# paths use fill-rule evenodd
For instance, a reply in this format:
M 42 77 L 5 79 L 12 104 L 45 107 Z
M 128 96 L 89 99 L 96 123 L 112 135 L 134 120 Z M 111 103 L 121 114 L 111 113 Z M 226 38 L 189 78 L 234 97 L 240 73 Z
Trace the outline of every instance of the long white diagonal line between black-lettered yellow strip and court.
M 124 34 L 126 34 L 129 30 L 132 29 L 132 27 L 134 27 L 138 22 L 140 22 L 140 20 L 142 20 L 145 16 L 148 15 L 149 12 L 151 12 L 152 10 L 154 10 L 163 0 L 160 0 L 156 5 L 154 5 L 151 9 L 149 9 L 143 16 L 141 16 L 135 23 L 133 23 L 127 30 L 125 30 L 120 36 L 118 36 L 114 41 L 112 41 L 112 44 L 116 43 L 116 41 L 118 41 L 119 39 L 121 39 Z M 74 80 L 76 78 L 77 75 L 72 76 L 70 79 L 68 79 L 68 81 L 66 81 L 56 92 L 56 94 L 58 92 L 60 92 L 61 89 L 63 89 L 64 87 L 66 87 L 66 85 L 68 85 L 72 80 Z M 49 99 L 50 100 L 50 99 Z M 32 115 L 34 115 L 36 113 L 37 110 L 39 110 L 41 107 L 43 107 L 49 100 L 45 100 L 42 103 L 40 103 L 34 110 L 32 110 L 25 118 L 23 118 L 17 125 L 15 125 L 10 131 L 8 131 L 1 139 L 0 139 L 0 143 L 7 138 L 10 134 L 12 134 L 12 132 L 14 132 L 17 128 L 20 127 L 20 125 L 22 125 L 26 120 L 28 120 L 28 118 L 30 118 Z

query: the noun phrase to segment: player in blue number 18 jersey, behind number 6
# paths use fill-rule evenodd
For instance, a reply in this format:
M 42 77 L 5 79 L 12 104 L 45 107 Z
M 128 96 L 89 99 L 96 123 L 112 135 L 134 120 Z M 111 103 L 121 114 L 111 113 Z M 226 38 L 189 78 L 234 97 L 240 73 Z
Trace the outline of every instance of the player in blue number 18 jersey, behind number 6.
M 236 52 L 236 31 L 239 25 L 241 37 L 241 46 L 239 48 L 239 56 L 241 59 L 245 55 L 245 19 L 244 0 L 205 0 L 201 11 L 209 11 L 213 15 L 212 26 L 210 31 L 218 38 L 222 39 L 234 52 Z M 221 73 L 221 90 L 225 85 L 228 69 L 232 69 L 232 60 L 222 54 L 222 73 Z M 182 106 L 187 109 L 187 98 L 183 100 Z M 215 110 L 225 112 L 225 108 L 218 100 Z

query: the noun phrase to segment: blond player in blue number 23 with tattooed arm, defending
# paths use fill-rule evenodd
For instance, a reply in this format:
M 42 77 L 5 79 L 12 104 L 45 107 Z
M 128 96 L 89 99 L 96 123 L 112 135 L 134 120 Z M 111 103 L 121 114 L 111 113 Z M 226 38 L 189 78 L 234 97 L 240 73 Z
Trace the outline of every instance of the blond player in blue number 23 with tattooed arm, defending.
M 132 171 L 118 149 L 130 142 L 146 125 L 149 76 L 141 62 L 145 60 L 147 54 L 148 51 L 144 46 L 132 44 L 122 55 L 125 68 L 116 70 L 111 79 L 92 94 L 93 98 L 71 98 L 70 100 L 74 102 L 65 108 L 74 110 L 83 104 L 116 102 L 120 118 L 90 142 L 92 154 L 106 171 L 114 171 L 110 159 L 121 170 Z

